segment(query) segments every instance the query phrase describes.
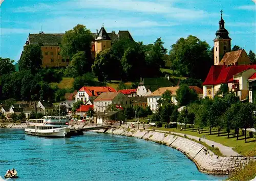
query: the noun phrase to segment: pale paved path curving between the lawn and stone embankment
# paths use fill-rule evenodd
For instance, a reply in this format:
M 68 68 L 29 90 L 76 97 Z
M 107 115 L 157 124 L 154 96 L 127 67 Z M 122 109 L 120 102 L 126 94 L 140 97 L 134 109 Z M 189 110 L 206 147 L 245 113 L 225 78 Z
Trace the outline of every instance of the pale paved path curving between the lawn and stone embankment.
M 125 125 L 123 125 L 123 127 L 127 127 Z M 145 129 L 148 131 L 152 131 L 151 129 Z M 162 133 L 169 133 L 168 131 L 161 131 L 161 130 L 155 130 L 157 132 L 162 132 Z M 170 132 L 171 134 L 175 134 L 175 135 L 180 135 L 180 136 L 184 136 L 183 133 L 177 133 L 177 132 Z M 198 140 L 200 137 L 196 137 L 196 136 L 192 136 L 192 135 L 187 135 L 186 137 L 194 139 L 194 140 Z M 217 143 L 215 141 L 211 141 L 211 140 L 207 140 L 205 138 L 200 138 L 202 142 L 205 142 L 207 145 L 211 146 L 214 145 L 215 147 L 219 148 L 220 152 L 223 154 L 223 156 L 241 156 L 241 154 L 237 153 L 236 151 L 232 150 L 231 147 L 228 146 L 224 146 L 223 144 Z

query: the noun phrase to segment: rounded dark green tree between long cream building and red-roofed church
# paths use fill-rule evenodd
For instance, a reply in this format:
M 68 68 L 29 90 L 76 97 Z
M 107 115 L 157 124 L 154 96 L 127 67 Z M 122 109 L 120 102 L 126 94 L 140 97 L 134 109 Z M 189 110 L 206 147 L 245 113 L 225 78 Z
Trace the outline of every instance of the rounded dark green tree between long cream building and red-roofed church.
M 198 100 L 198 95 L 194 89 L 190 89 L 186 84 L 182 84 L 176 91 L 176 100 L 179 106 L 187 106 L 191 102 Z

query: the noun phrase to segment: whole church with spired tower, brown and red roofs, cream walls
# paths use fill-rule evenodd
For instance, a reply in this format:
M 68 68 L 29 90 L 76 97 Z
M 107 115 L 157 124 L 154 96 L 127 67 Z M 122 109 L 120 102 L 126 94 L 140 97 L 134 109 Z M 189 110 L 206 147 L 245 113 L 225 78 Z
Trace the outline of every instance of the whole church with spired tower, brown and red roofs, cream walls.
M 250 73 L 254 73 L 254 71 L 247 70 L 256 69 L 256 65 L 251 65 L 251 61 L 244 49 L 231 51 L 231 38 L 228 36 L 229 33 L 224 24 L 221 11 L 219 30 L 217 30 L 214 39 L 214 65 L 211 66 L 203 83 L 203 97 L 213 98 L 221 84 L 227 84 L 229 90 L 235 92 L 242 100 L 248 95 L 248 90 L 244 90 L 247 89 L 245 86 L 237 87 L 237 84 L 247 84 L 249 77 L 243 80 L 245 75 L 251 76 Z

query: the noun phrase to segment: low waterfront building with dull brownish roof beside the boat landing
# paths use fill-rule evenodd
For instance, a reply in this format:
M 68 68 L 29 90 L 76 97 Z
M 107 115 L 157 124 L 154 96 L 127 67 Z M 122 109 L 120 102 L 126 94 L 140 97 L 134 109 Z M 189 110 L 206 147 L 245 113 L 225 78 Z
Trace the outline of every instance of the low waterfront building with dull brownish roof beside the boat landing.
M 97 125 L 111 125 L 115 122 L 125 121 L 125 115 L 118 111 L 97 112 L 93 116 Z

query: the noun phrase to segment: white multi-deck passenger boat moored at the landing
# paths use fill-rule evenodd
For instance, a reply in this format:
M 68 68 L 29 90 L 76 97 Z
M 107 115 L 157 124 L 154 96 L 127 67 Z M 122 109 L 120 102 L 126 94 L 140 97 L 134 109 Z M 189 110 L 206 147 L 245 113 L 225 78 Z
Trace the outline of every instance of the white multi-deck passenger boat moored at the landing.
M 44 116 L 43 119 L 29 119 L 25 133 L 43 137 L 70 137 L 67 116 Z

